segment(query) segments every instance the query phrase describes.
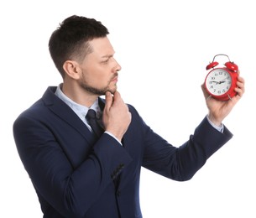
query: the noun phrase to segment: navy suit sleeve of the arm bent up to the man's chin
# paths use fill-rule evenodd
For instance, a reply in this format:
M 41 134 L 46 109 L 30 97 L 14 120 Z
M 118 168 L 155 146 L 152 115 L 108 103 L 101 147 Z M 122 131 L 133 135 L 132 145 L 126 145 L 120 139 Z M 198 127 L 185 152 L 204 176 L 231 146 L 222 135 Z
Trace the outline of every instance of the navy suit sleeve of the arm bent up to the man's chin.
M 13 136 L 35 189 L 66 217 L 83 217 L 112 179 L 132 161 L 125 149 L 104 133 L 74 169 L 55 133 L 42 119 L 35 119 L 29 113 L 14 122 Z

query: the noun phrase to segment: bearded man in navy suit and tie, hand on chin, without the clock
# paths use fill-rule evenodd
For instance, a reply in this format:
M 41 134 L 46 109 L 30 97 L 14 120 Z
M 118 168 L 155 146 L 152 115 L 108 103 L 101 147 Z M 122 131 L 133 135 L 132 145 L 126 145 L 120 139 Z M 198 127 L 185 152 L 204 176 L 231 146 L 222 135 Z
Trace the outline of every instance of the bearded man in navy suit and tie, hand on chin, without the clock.
M 243 96 L 243 78 L 229 101 L 203 90 L 208 114 L 187 142 L 174 147 L 123 102 L 117 91 L 121 66 L 107 34 L 91 18 L 74 15 L 60 23 L 49 49 L 63 82 L 48 87 L 13 123 L 18 154 L 44 217 L 142 217 L 142 166 L 185 181 L 232 138 L 222 121 Z M 86 118 L 89 109 L 103 128 L 100 136 Z

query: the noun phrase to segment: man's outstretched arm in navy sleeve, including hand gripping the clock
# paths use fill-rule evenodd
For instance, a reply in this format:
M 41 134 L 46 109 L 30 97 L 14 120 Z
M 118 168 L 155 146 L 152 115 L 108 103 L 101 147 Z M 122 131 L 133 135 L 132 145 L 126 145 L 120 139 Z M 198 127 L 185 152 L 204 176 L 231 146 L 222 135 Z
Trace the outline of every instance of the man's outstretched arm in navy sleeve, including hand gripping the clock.
M 230 101 L 217 101 L 207 96 L 202 86 L 209 109 L 208 117 L 214 125 L 222 126 L 223 119 L 243 96 L 244 80 L 240 76 L 238 76 L 237 85 L 235 90 L 238 95 Z M 167 143 L 149 127 L 145 129 L 148 130 L 144 137 L 146 138 L 144 167 L 175 180 L 191 179 L 196 171 L 206 163 L 206 159 L 232 138 L 232 133 L 226 127 L 223 133 L 219 132 L 206 118 L 196 128 L 194 135 L 191 135 L 190 139 L 179 148 Z

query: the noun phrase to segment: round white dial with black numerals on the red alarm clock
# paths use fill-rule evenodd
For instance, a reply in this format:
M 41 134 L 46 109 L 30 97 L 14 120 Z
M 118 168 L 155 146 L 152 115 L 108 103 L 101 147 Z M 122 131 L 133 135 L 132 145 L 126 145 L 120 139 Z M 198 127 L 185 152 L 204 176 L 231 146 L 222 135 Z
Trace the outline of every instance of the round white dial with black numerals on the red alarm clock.
M 232 85 L 229 73 L 221 68 L 212 70 L 206 77 L 206 88 L 214 96 L 222 96 Z

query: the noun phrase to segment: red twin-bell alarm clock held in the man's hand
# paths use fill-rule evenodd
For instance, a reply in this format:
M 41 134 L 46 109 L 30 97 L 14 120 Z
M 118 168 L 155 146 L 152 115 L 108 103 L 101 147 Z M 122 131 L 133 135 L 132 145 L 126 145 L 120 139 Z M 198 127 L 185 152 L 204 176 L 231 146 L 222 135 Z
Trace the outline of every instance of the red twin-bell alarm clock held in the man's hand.
M 211 70 L 206 75 L 205 87 L 206 91 L 213 98 L 220 101 L 227 101 L 237 95 L 234 88 L 237 86 L 238 80 L 238 65 L 229 60 L 224 67 L 215 68 L 218 62 L 214 61 L 219 55 L 227 56 L 226 54 L 217 54 L 213 57 L 212 63 L 206 66 L 206 70 Z

